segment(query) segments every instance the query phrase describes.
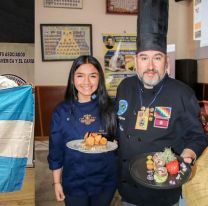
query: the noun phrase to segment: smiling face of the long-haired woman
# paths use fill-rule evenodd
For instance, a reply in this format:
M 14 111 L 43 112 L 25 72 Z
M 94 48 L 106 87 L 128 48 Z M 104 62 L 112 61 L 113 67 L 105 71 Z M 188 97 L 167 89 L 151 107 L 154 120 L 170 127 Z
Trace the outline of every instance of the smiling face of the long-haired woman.
M 88 102 L 97 90 L 99 83 L 98 70 L 90 63 L 83 64 L 75 71 L 74 85 L 78 91 L 78 101 Z

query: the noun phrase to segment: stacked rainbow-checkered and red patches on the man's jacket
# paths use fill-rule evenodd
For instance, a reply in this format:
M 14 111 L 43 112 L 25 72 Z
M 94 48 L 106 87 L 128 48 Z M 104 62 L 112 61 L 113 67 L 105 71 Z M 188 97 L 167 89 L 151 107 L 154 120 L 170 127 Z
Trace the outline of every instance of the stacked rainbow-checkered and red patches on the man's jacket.
M 171 117 L 171 107 L 155 107 L 154 112 L 154 127 L 168 128 L 169 119 Z

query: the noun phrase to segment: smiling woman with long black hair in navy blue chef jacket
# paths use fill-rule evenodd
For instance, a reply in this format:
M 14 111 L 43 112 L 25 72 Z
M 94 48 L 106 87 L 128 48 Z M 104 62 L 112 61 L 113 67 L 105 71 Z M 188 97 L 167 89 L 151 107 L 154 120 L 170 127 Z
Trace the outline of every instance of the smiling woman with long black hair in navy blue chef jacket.
M 116 189 L 114 152 L 87 154 L 66 146 L 89 131 L 106 133 L 112 140 L 116 115 L 100 63 L 92 56 L 80 56 L 73 62 L 65 101 L 53 112 L 49 137 L 56 199 L 67 206 L 109 206 Z

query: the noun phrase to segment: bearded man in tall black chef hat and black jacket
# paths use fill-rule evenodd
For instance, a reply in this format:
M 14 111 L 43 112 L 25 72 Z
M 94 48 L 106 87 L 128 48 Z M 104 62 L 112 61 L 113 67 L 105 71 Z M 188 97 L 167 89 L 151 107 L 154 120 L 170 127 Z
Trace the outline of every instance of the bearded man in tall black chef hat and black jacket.
M 167 0 L 140 0 L 137 75 L 117 90 L 119 120 L 119 193 L 125 206 L 176 206 L 181 187 L 151 189 L 136 183 L 129 162 L 138 154 L 171 148 L 191 163 L 207 146 L 194 92 L 168 77 Z M 146 165 L 141 165 L 145 167 Z

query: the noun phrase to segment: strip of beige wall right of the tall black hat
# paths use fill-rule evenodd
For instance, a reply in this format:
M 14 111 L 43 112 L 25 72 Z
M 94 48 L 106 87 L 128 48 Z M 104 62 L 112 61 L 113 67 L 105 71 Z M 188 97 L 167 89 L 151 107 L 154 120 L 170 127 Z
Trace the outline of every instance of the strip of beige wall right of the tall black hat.
M 168 41 L 176 44 L 176 59 L 195 58 L 193 1 L 169 0 Z

